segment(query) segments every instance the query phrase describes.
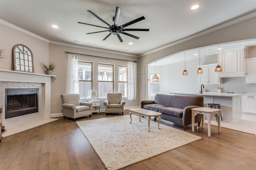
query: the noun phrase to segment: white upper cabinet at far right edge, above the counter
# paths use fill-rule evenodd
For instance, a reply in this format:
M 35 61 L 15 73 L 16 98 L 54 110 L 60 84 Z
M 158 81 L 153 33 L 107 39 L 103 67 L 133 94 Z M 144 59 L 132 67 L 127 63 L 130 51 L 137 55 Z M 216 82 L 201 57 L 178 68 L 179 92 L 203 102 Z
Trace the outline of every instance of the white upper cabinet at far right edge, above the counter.
M 256 57 L 246 59 L 247 75 L 246 83 L 256 83 Z

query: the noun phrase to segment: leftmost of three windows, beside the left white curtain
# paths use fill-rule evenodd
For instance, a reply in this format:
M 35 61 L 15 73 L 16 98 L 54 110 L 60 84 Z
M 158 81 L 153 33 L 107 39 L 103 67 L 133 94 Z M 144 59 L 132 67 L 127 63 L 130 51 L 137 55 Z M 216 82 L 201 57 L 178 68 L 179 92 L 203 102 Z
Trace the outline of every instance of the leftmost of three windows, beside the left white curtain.
M 78 80 L 81 100 L 91 99 L 92 63 L 78 61 Z

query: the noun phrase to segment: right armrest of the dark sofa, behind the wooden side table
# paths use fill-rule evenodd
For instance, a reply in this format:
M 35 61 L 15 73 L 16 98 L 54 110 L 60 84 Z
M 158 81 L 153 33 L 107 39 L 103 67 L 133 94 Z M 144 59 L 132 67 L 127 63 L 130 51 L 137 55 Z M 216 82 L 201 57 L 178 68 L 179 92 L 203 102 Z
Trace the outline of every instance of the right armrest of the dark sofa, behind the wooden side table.
M 183 110 L 183 115 L 182 115 L 182 124 L 183 125 L 191 125 L 192 123 L 192 108 L 196 108 L 200 106 L 187 106 Z M 201 121 L 201 115 L 196 115 L 195 117 L 195 123 L 198 123 Z

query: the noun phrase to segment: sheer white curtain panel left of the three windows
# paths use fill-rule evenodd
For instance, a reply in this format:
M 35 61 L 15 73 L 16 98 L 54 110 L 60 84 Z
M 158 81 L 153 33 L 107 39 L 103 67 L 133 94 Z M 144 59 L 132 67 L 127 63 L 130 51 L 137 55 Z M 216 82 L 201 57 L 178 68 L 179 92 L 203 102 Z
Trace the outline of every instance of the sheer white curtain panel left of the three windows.
M 66 94 L 79 94 L 78 55 L 68 54 Z

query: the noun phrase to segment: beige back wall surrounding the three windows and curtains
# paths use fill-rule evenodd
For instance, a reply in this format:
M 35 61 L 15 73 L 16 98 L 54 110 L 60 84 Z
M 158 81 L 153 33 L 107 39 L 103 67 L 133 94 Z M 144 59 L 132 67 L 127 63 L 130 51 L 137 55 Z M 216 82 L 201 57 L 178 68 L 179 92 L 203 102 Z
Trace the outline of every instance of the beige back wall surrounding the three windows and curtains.
M 56 75 L 56 77 L 52 78 L 52 109 L 51 113 L 61 113 L 61 94 L 66 93 L 66 75 L 67 75 L 67 64 L 68 64 L 68 54 L 66 52 L 72 52 L 72 53 L 79 53 L 79 54 L 85 54 L 85 55 L 94 55 L 99 57 L 108 57 L 108 58 L 114 58 L 114 59 L 123 59 L 123 60 L 130 60 L 130 61 L 138 61 L 137 57 L 128 57 L 124 55 L 118 55 L 118 54 L 112 54 L 112 53 L 106 53 L 106 52 L 100 52 L 100 51 L 93 51 L 83 48 L 77 48 L 77 47 L 69 47 L 65 45 L 56 45 L 56 44 L 50 44 L 50 61 L 53 63 L 56 63 L 57 66 L 53 71 L 53 74 Z M 119 60 L 111 60 L 111 59 L 102 59 L 97 57 L 88 57 L 79 55 L 79 60 L 82 61 L 90 61 L 93 62 L 93 79 L 98 79 L 98 70 L 97 70 L 97 64 L 98 63 L 112 63 L 114 64 L 115 68 L 114 71 L 118 71 L 118 64 L 121 65 L 127 65 L 127 62 L 119 61 Z M 137 63 L 137 70 L 138 70 L 139 64 Z M 117 75 L 117 74 L 116 74 Z M 118 77 L 114 77 L 114 80 L 118 80 Z M 138 76 L 137 76 L 137 82 L 138 82 Z M 118 87 L 118 81 L 115 81 L 115 87 Z M 138 84 L 137 84 L 138 86 Z M 93 84 L 93 89 L 97 90 L 97 84 Z M 114 89 L 114 92 L 118 92 L 118 89 Z M 130 106 L 139 106 L 139 100 L 138 100 L 138 93 L 135 101 L 129 101 L 125 100 L 126 104 L 125 107 Z M 103 102 L 101 102 L 101 108 L 103 108 Z

